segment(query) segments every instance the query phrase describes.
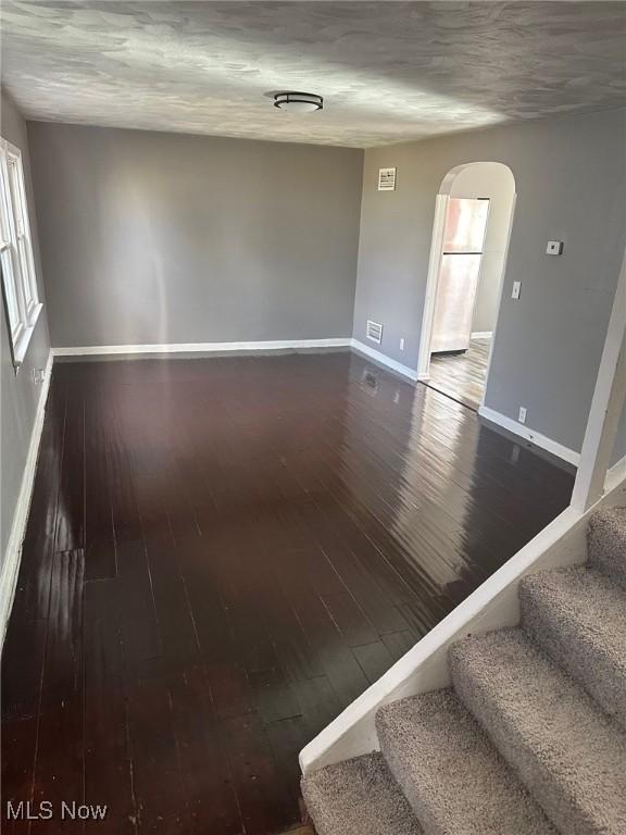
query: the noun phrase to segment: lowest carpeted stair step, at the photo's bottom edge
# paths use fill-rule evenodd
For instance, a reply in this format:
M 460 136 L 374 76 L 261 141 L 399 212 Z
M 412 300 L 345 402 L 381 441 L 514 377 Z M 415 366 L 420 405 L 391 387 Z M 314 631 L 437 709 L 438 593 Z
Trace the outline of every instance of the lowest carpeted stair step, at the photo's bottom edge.
M 302 777 L 317 835 L 423 835 L 380 753 L 366 753 Z

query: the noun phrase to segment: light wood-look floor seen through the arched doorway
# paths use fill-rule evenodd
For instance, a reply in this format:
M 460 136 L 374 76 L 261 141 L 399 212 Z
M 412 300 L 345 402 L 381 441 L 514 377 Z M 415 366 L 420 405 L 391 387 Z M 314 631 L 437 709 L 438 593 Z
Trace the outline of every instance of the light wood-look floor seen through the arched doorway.
M 477 411 L 485 392 L 490 348 L 491 339 L 472 339 L 463 353 L 434 353 L 428 385 Z

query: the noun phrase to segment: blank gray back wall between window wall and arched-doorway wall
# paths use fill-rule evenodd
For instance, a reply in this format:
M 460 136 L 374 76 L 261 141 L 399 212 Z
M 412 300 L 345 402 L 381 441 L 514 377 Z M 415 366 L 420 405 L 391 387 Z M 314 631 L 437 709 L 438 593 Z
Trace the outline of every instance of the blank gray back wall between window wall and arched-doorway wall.
M 363 151 L 28 137 L 54 347 L 351 336 Z

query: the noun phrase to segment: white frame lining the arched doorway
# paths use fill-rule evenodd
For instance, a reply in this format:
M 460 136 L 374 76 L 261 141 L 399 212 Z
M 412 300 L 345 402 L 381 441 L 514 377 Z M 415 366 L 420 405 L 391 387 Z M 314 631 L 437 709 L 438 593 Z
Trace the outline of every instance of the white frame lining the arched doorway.
M 437 287 L 439 284 L 439 272 L 441 270 L 441 259 L 443 257 L 443 232 L 446 228 L 446 217 L 448 215 L 448 203 L 452 185 L 458 175 L 471 165 L 480 165 L 483 162 L 467 162 L 463 165 L 456 165 L 451 169 L 443 177 L 439 192 L 435 200 L 435 220 L 433 222 L 433 237 L 430 241 L 430 257 L 428 259 L 428 277 L 426 279 L 426 297 L 424 300 L 424 314 L 422 316 L 422 331 L 420 333 L 420 352 L 417 354 L 417 381 L 426 383 L 430 379 L 430 345 L 433 341 L 433 323 L 435 320 L 435 303 L 437 301 Z M 504 165 L 504 163 L 499 163 Z M 508 165 L 505 167 L 509 169 Z M 511 169 L 509 169 L 511 171 Z M 513 175 L 513 172 L 511 172 Z M 514 176 L 514 175 L 513 175 Z M 502 304 L 502 294 L 504 290 L 504 276 L 506 274 L 506 262 L 509 260 L 509 245 L 511 242 L 511 232 L 513 229 L 513 220 L 515 215 L 515 205 L 517 202 L 517 192 L 513 194 L 511 201 L 511 214 L 509 217 L 509 229 L 506 233 L 506 245 L 504 248 L 504 258 L 502 260 L 502 273 L 498 285 L 498 313 L 496 324 L 493 325 L 493 335 L 489 346 L 489 359 L 487 360 L 487 374 L 485 376 L 485 388 L 480 406 L 485 404 L 485 395 L 487 392 L 487 382 L 491 371 L 491 359 L 493 357 L 493 345 L 498 331 L 500 319 L 500 306 Z

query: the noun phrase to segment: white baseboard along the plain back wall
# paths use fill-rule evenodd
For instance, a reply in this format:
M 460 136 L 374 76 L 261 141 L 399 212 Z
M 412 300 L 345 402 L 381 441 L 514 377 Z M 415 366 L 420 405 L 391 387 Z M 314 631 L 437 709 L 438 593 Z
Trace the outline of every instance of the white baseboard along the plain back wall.
M 52 348 L 54 357 L 96 357 L 140 353 L 228 353 L 248 351 L 285 351 L 298 348 L 350 348 L 348 336 L 329 339 L 275 339 L 243 342 L 159 342 L 155 345 L 85 345 Z

